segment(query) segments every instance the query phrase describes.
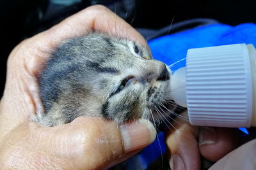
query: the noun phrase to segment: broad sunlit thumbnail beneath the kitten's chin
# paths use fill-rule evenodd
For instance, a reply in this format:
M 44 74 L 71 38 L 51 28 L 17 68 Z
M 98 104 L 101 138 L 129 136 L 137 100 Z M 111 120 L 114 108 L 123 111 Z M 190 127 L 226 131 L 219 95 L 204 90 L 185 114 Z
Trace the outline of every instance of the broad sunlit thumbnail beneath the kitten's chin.
M 143 148 L 156 139 L 154 125 L 145 119 L 120 126 L 125 152 Z

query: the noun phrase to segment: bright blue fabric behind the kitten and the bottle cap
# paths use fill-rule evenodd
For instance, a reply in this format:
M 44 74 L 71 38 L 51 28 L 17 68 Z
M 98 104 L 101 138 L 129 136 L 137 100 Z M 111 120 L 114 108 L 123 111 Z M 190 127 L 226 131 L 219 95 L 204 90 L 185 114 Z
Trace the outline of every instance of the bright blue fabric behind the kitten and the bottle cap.
M 161 60 L 170 65 L 186 57 L 189 48 L 200 48 L 206 46 L 230 45 L 235 43 L 252 43 L 256 46 L 256 25 L 241 24 L 236 27 L 224 24 L 207 25 L 196 27 L 177 34 L 171 34 L 148 42 L 152 50 L 154 59 Z M 183 60 L 175 64 L 172 70 L 184 67 L 186 61 Z M 161 150 L 165 152 L 163 132 L 159 134 L 159 141 L 156 139 L 152 145 L 141 152 L 140 160 L 143 169 L 157 157 L 161 156 Z

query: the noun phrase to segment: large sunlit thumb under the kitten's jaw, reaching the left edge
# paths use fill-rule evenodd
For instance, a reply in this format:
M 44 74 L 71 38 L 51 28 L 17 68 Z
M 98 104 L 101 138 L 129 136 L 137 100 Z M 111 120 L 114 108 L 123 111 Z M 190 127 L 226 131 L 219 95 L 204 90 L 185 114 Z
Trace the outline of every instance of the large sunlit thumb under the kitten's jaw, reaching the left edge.
M 57 127 L 38 127 L 31 122 L 21 124 L 2 140 L 0 163 L 6 169 L 106 169 L 154 138 L 156 130 L 148 120 L 120 127 L 92 117 L 79 117 Z

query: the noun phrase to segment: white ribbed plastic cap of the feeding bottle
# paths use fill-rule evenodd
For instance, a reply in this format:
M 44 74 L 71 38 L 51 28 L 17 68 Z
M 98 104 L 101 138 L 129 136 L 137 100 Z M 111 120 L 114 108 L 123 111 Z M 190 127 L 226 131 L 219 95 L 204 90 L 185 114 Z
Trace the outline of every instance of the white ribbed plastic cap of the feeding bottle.
M 247 46 L 189 49 L 186 90 L 192 125 L 250 127 L 252 80 Z

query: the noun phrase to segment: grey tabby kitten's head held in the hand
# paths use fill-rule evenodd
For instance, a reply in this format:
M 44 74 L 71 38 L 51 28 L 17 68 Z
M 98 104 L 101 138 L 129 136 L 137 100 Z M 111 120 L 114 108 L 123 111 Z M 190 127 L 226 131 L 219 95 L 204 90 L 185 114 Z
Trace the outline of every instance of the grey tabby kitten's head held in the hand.
M 118 124 L 150 119 L 170 89 L 169 71 L 147 48 L 99 32 L 61 43 L 38 81 L 45 113 L 38 113 L 37 122 L 42 126 L 67 124 L 79 116 Z

